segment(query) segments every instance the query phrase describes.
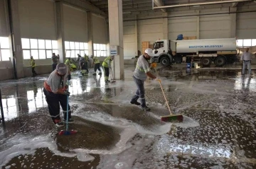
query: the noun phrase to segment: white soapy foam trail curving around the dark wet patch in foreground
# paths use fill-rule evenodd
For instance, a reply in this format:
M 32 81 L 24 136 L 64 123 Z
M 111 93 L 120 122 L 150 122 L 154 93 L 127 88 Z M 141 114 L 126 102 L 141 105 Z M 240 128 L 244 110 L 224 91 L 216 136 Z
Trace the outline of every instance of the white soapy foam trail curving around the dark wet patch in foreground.
M 74 103 L 73 103 L 74 104 Z M 73 105 L 72 104 L 72 105 Z M 74 104 L 75 105 L 75 104 Z M 122 151 L 126 150 L 127 148 L 130 148 L 129 145 L 127 145 L 127 141 L 131 139 L 135 134 L 138 132 L 144 133 L 144 134 L 164 134 L 166 132 L 169 132 L 170 124 L 164 124 L 160 125 L 158 127 L 154 127 L 154 129 L 144 129 L 139 124 L 134 124 L 129 120 L 124 120 L 122 118 L 116 118 L 112 117 L 111 115 L 108 115 L 103 112 L 93 112 L 90 113 L 81 113 L 83 112 L 83 108 L 85 108 L 85 105 L 78 105 L 78 109 L 76 109 L 73 114 L 78 115 L 82 118 L 85 118 L 86 120 L 92 120 L 95 122 L 101 122 L 102 124 L 108 124 L 112 125 L 113 127 L 119 127 L 122 128 L 123 131 L 120 133 L 120 140 L 117 142 L 116 146 L 112 148 L 110 151 L 105 150 L 89 150 L 89 149 L 73 149 L 70 150 L 70 153 L 61 153 L 57 150 L 57 145 L 54 144 L 55 141 L 53 141 L 50 136 L 38 136 L 36 138 L 29 138 L 29 137 L 23 137 L 22 135 L 14 136 L 12 139 L 10 139 L 8 142 L 9 144 L 14 144 L 14 146 L 11 146 L 10 148 L 6 149 L 5 151 L 1 152 L 0 158 L 1 158 L 1 166 L 8 163 L 11 158 L 14 158 L 18 155 L 25 155 L 25 154 L 31 154 L 35 153 L 36 148 L 49 148 L 50 151 L 53 151 L 53 153 L 57 156 L 66 156 L 66 157 L 75 157 L 77 156 L 79 161 L 91 161 L 93 159 L 92 156 L 90 156 L 88 153 L 97 153 L 97 154 L 116 154 L 121 153 Z M 18 138 L 17 138 L 18 137 Z M 117 165 L 117 167 L 120 167 L 121 165 Z

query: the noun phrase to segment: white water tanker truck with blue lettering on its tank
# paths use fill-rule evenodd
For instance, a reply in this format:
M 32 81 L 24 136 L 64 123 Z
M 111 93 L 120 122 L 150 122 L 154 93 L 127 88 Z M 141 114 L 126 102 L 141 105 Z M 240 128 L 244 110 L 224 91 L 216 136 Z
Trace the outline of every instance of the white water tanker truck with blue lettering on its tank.
M 175 52 L 171 50 L 171 43 L 175 44 Z M 163 66 L 191 62 L 201 62 L 203 66 L 209 66 L 214 62 L 216 66 L 223 66 L 237 59 L 235 38 L 156 40 L 153 52 L 152 61 Z

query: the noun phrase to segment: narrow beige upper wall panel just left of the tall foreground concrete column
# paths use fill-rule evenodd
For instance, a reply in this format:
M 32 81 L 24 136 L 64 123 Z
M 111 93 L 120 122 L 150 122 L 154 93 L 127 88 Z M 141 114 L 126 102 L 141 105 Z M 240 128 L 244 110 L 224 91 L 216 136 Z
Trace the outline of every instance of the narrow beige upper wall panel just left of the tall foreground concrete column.
M 107 44 L 107 23 L 105 18 L 92 14 L 93 43 Z

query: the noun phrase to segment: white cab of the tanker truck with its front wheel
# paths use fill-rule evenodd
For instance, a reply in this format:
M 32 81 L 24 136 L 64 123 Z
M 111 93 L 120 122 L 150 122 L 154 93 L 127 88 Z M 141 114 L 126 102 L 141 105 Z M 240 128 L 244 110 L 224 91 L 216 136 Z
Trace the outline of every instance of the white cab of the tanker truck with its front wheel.
M 171 40 L 156 40 L 153 49 L 153 62 L 161 63 L 163 66 L 169 66 L 172 62 Z

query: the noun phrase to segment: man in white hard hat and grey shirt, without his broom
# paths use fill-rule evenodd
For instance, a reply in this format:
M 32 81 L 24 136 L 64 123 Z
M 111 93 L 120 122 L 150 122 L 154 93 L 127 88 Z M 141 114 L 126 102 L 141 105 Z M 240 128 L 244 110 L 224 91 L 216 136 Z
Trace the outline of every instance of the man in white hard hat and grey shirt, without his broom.
M 150 108 L 146 106 L 144 81 L 146 81 L 146 76 L 149 76 L 154 80 L 156 79 L 156 76 L 154 76 L 150 72 L 149 62 L 148 62 L 148 60 L 151 59 L 151 57 L 153 56 L 154 54 L 152 49 L 147 48 L 144 54 L 139 57 L 137 61 L 136 69 L 133 75 L 134 82 L 137 85 L 137 91 L 136 91 L 136 94 L 132 97 L 132 100 L 130 103 L 134 105 L 140 105 L 142 107 L 142 110 L 144 111 L 150 111 Z M 139 98 L 141 99 L 141 103 L 137 101 Z

